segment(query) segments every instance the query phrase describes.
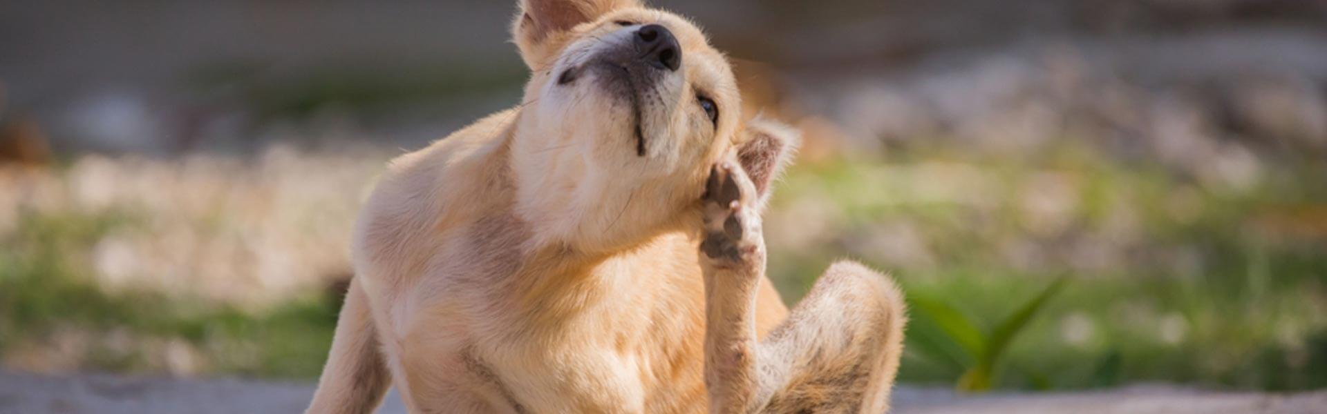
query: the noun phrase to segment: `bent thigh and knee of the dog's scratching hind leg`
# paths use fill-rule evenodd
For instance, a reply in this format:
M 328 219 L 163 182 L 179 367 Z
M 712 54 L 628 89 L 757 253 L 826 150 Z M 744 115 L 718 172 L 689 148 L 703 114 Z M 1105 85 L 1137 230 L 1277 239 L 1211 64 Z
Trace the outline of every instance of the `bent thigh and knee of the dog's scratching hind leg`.
M 783 381 L 767 413 L 885 413 L 902 354 L 902 296 L 861 264 L 829 267 L 760 344 Z

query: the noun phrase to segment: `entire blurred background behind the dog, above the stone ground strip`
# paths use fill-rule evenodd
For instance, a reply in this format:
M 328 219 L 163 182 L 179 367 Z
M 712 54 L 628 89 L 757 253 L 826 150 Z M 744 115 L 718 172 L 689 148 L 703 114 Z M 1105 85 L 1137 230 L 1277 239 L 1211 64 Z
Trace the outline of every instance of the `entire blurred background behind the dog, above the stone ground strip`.
M 901 380 L 1327 387 L 1327 1 L 657 0 L 805 133 L 791 303 Z M 385 162 L 508 106 L 514 1 L 0 1 L 0 369 L 312 381 Z

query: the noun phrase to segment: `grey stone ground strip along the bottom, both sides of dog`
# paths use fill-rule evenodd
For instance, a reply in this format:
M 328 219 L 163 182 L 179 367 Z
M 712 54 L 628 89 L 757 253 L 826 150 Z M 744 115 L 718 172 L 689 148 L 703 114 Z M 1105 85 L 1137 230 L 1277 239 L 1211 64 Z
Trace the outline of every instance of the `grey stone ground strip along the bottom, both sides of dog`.
M 191 380 L 80 374 L 46 377 L 0 372 L 0 414 L 100 413 L 301 413 L 312 383 Z M 1206 393 L 1170 386 L 1132 386 L 1109 391 L 955 395 L 947 390 L 901 387 L 894 413 L 1327 413 L 1327 390 L 1299 394 Z M 405 413 L 387 395 L 380 413 Z

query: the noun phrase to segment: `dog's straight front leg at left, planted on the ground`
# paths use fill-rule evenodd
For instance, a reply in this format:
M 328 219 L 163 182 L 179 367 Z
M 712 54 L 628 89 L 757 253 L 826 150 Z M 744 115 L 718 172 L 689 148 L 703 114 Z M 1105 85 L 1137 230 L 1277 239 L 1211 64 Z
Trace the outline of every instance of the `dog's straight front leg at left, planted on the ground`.
M 308 414 L 373 413 L 391 383 L 358 277 L 350 280 L 336 324 L 332 352 L 322 368 Z

